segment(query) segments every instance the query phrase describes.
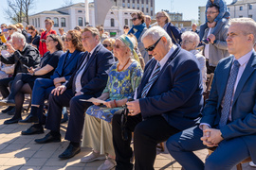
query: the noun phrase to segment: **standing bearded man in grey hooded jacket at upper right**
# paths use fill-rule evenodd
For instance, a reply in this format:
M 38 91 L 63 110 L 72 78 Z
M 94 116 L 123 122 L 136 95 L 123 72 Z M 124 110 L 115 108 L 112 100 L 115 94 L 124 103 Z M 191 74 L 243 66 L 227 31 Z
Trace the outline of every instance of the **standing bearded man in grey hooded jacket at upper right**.
M 204 34 L 204 40 L 210 38 L 210 42 L 206 41 L 205 49 L 203 55 L 206 57 L 206 65 L 207 65 L 207 74 L 214 73 L 216 65 L 218 64 L 220 59 L 224 59 L 229 56 L 228 52 L 228 44 L 226 42 L 227 39 L 227 32 L 229 26 L 225 23 L 223 24 L 221 30 L 219 31 L 216 36 L 211 34 L 213 27 L 212 23 L 214 19 L 219 14 L 219 7 L 216 5 L 211 5 L 207 9 L 207 19 L 208 19 L 208 26 L 209 28 L 206 29 Z

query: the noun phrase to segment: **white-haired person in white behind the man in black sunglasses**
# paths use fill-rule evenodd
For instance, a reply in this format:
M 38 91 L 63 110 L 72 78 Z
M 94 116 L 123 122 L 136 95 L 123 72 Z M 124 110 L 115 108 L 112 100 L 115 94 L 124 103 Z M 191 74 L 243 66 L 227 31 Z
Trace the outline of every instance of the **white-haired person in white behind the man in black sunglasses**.
M 181 47 L 187 51 L 190 51 L 199 61 L 199 68 L 202 75 L 202 84 L 205 91 L 207 80 L 206 58 L 198 50 L 196 50 L 196 47 L 199 44 L 199 36 L 195 32 L 186 31 L 181 35 L 181 39 Z

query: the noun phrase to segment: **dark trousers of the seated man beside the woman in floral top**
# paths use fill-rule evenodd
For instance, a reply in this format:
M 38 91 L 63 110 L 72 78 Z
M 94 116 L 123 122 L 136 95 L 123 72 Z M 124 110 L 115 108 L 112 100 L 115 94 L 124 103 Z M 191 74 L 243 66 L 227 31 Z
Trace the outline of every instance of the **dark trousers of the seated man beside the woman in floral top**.
M 46 128 L 52 131 L 60 131 L 63 107 L 70 107 L 70 116 L 65 133 L 65 140 L 80 143 L 82 127 L 84 122 L 84 111 L 92 103 L 81 101 L 80 99 L 89 99 L 92 95 L 74 96 L 71 89 L 67 89 L 63 94 L 49 95 L 49 109 L 46 118 Z

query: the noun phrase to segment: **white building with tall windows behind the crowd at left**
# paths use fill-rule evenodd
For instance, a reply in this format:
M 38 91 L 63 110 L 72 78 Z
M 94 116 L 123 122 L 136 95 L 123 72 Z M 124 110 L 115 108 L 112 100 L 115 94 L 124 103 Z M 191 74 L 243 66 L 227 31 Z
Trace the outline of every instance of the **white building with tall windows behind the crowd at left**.
M 137 11 L 137 9 L 131 8 L 119 8 L 112 7 L 104 20 L 105 31 L 110 32 L 112 37 L 119 36 L 123 33 L 123 26 L 132 26 L 131 13 Z M 89 4 L 89 25 L 95 26 L 95 12 L 94 4 Z M 45 20 L 49 18 L 54 21 L 52 27 L 58 33 L 60 27 L 64 28 L 64 31 L 73 29 L 75 26 L 86 26 L 85 21 L 85 8 L 84 3 L 78 3 L 64 8 L 57 8 L 49 11 L 42 11 L 29 16 L 29 23 L 36 27 L 37 30 L 45 28 Z

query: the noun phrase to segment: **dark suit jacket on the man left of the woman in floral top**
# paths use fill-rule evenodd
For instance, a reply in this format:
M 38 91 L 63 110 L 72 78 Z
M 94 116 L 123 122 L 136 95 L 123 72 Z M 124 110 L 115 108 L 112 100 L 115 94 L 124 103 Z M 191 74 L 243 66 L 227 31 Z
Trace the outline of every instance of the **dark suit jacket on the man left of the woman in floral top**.
M 82 56 L 82 59 L 79 61 L 80 64 L 66 84 L 66 88 L 72 88 L 73 93 L 75 93 L 76 90 L 75 76 L 82 65 L 83 59 L 85 59 L 87 56 L 87 53 L 88 52 L 85 52 L 85 54 Z M 104 48 L 100 43 L 99 46 L 97 46 L 95 49 L 94 53 L 91 55 L 83 71 L 81 78 L 81 92 L 85 95 L 87 94 L 88 96 L 100 96 L 106 86 L 108 70 L 113 62 L 114 57 L 112 53 Z

